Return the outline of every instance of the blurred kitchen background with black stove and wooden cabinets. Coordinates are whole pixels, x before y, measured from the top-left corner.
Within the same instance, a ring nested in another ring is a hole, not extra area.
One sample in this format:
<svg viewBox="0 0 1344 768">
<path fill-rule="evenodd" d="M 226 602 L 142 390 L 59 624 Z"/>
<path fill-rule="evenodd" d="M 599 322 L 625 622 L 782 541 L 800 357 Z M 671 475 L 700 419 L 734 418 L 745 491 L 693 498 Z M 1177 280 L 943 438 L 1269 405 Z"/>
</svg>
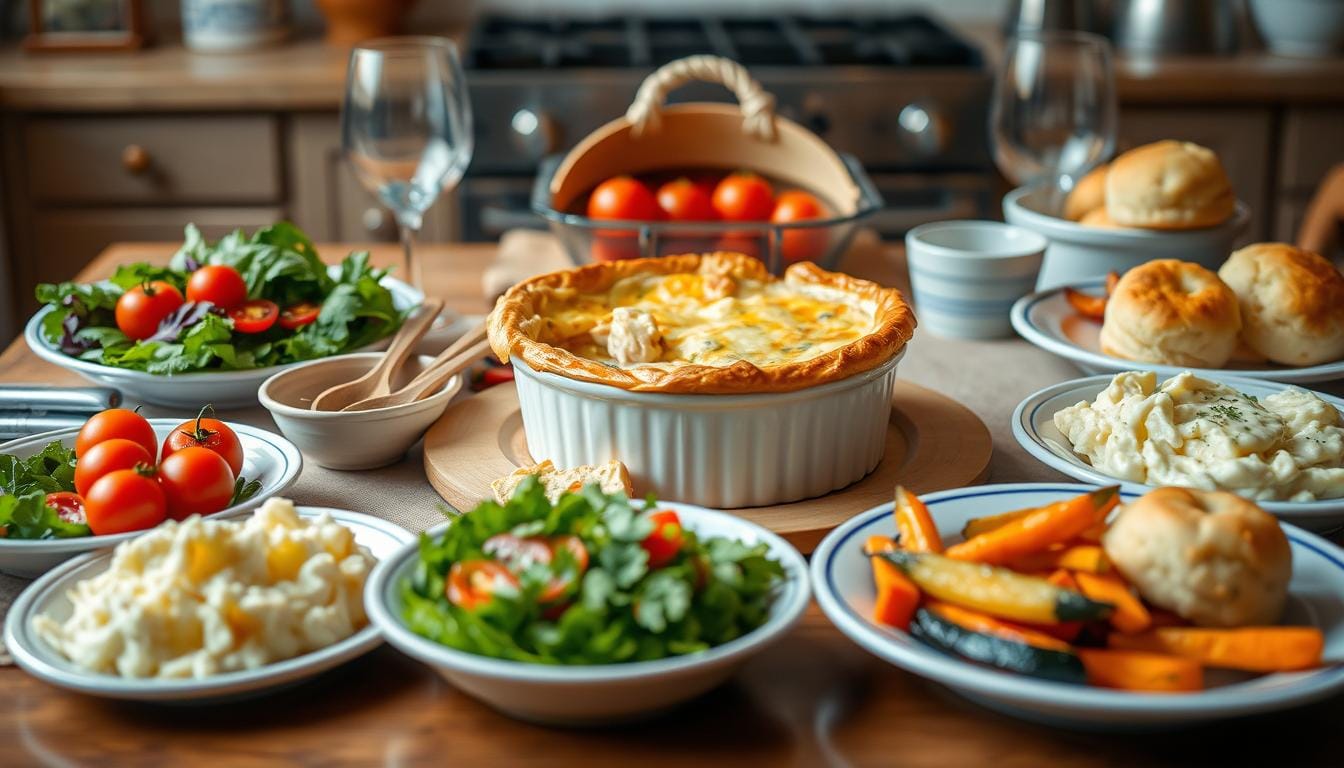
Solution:
<svg viewBox="0 0 1344 768">
<path fill-rule="evenodd" d="M 1266 11 L 1267 9 L 1267 11 Z M 210 237 L 289 218 L 316 241 L 394 241 L 340 153 L 345 55 L 371 30 L 462 44 L 476 148 L 422 239 L 542 227 L 538 163 L 622 114 L 657 65 L 718 52 L 780 112 L 855 155 L 895 239 L 1000 218 L 992 67 L 1013 30 L 1081 28 L 1117 48 L 1118 148 L 1214 148 L 1254 211 L 1246 241 L 1292 241 L 1344 161 L 1344 0 L 4 0 L 0 3 L 0 339 L 40 281 L 116 241 Z M 32 24 L 30 13 L 40 23 Z M 246 23 L 241 24 L 239 20 Z M 324 39 L 325 35 L 325 39 Z M 184 39 L 185 38 L 185 39 Z M 673 101 L 727 100 L 707 85 Z"/>
</svg>

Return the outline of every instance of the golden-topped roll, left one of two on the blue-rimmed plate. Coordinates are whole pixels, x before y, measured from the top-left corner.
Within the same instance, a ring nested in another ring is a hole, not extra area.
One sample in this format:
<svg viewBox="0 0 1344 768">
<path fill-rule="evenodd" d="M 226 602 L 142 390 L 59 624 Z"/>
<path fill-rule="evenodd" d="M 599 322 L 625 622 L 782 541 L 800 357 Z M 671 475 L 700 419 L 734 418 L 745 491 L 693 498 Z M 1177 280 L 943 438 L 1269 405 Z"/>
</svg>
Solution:
<svg viewBox="0 0 1344 768">
<path fill-rule="evenodd" d="M 1106 301 L 1101 350 L 1107 355 L 1218 369 L 1242 328 L 1236 295 L 1198 264 L 1163 258 L 1125 273 Z"/>
</svg>

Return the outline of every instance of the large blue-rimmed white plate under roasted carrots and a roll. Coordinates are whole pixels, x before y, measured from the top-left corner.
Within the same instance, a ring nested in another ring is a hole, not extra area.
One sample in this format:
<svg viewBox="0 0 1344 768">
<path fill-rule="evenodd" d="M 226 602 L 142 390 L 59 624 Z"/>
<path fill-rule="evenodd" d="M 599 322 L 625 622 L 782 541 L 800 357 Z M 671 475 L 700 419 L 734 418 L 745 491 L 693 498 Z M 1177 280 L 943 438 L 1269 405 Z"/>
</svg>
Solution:
<svg viewBox="0 0 1344 768">
<path fill-rule="evenodd" d="M 966 521 L 1008 510 L 1058 502 L 1093 486 L 1020 483 L 977 486 L 923 496 L 945 542 L 961 541 Z M 1137 498 L 1124 494 L 1125 500 Z M 1211 686 L 1191 694 L 1140 694 L 1042 681 L 981 667 L 878 624 L 872 616 L 872 569 L 863 554 L 870 535 L 894 535 L 891 504 L 849 519 L 812 553 L 812 590 L 835 625 L 874 655 L 952 687 L 989 707 L 1056 725 L 1087 728 L 1176 728 L 1210 720 L 1286 709 L 1344 690 L 1344 550 L 1293 526 L 1284 526 L 1293 547 L 1293 580 L 1285 624 L 1310 624 L 1325 632 L 1318 670 L 1242 675 L 1210 673 Z"/>
</svg>

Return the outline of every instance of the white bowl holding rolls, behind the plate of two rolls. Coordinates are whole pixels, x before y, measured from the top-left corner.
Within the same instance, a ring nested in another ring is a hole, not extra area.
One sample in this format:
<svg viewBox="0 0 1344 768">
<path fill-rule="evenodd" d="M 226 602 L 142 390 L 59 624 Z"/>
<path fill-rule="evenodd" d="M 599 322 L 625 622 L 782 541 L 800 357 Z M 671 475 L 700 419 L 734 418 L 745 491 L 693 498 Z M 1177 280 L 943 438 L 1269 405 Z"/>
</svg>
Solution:
<svg viewBox="0 0 1344 768">
<path fill-rule="evenodd" d="M 1236 203 L 1232 218 L 1199 230 L 1102 229 L 1083 226 L 1055 215 L 1046 204 L 1046 191 L 1019 187 L 1004 196 L 1004 219 L 1050 239 L 1038 289 L 1071 285 L 1107 272 L 1125 273 L 1154 258 L 1179 258 L 1214 272 L 1232 253 L 1232 242 L 1250 222 L 1250 210 Z"/>
</svg>

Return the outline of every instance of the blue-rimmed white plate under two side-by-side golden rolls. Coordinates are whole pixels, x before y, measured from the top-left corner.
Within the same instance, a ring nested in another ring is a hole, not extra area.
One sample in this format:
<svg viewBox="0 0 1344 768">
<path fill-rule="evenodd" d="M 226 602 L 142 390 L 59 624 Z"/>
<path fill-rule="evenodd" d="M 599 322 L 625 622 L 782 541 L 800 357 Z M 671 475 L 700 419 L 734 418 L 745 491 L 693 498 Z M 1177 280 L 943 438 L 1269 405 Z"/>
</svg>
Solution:
<svg viewBox="0 0 1344 768">
<path fill-rule="evenodd" d="M 1101 296 L 1106 291 L 1105 284 L 1105 280 L 1091 280 L 1078 282 L 1074 288 L 1083 293 Z M 1227 375 L 1294 383 L 1344 378 L 1344 360 L 1296 369 L 1273 363 L 1257 364 L 1232 360 L 1223 369 L 1185 369 L 1113 358 L 1101 351 L 1101 323 L 1079 316 L 1064 299 L 1063 288 L 1051 288 L 1023 296 L 1013 304 L 1009 319 L 1013 330 L 1023 339 L 1073 362 L 1089 374 L 1157 371 L 1161 377 L 1173 377 L 1181 371 L 1192 370 L 1199 375 Z"/>
</svg>

